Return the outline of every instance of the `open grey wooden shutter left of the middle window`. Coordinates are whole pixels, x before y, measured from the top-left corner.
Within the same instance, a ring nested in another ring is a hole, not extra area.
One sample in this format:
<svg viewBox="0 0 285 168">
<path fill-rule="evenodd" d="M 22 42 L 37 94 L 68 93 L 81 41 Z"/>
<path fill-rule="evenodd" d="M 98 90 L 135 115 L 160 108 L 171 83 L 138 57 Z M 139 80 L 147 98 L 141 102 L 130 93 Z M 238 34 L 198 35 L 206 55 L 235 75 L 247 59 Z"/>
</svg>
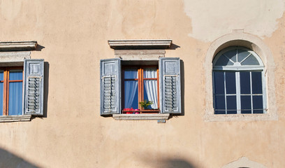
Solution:
<svg viewBox="0 0 285 168">
<path fill-rule="evenodd" d="M 121 59 L 101 59 L 101 116 L 121 112 Z"/>
</svg>

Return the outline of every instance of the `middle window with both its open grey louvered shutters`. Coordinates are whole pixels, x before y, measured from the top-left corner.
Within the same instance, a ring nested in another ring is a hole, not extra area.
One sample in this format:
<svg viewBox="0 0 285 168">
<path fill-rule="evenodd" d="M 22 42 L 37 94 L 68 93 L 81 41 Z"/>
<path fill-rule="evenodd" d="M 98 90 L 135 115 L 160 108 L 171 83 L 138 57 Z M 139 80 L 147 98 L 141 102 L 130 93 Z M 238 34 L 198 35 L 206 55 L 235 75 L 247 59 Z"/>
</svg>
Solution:
<svg viewBox="0 0 285 168">
<path fill-rule="evenodd" d="M 145 62 L 122 66 L 120 58 L 101 59 L 101 116 L 140 109 L 143 99 L 154 102 L 150 110 L 140 109 L 143 113 L 181 113 L 180 59 L 160 57 L 156 66 Z"/>
</svg>

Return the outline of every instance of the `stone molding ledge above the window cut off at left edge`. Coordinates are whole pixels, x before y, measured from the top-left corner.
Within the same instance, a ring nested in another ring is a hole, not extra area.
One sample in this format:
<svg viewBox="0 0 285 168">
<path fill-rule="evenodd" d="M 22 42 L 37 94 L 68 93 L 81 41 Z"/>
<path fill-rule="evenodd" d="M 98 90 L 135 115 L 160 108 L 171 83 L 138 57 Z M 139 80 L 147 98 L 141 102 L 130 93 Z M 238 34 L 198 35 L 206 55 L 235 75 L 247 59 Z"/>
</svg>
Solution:
<svg viewBox="0 0 285 168">
<path fill-rule="evenodd" d="M 0 42 L 0 51 L 36 50 L 36 41 Z"/>
</svg>

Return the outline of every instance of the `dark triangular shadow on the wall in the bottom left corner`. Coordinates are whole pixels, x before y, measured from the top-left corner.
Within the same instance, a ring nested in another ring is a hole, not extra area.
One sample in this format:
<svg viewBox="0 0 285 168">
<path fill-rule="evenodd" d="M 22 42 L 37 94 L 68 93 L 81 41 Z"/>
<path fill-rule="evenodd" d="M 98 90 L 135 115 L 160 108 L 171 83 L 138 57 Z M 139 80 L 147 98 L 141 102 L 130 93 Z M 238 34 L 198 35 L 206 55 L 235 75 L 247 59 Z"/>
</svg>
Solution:
<svg viewBox="0 0 285 168">
<path fill-rule="evenodd" d="M 23 158 L 14 155 L 6 150 L 0 148 L 0 167 L 21 167 L 21 168 L 36 168 L 31 162 L 27 162 Z"/>
</svg>

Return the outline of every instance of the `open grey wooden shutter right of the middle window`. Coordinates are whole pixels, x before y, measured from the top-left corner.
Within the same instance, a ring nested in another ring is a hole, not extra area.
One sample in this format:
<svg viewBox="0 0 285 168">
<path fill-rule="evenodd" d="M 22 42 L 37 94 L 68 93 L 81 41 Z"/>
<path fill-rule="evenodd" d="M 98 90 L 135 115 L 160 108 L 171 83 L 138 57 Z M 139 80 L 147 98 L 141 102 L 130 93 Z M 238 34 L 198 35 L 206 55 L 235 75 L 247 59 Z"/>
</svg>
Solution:
<svg viewBox="0 0 285 168">
<path fill-rule="evenodd" d="M 159 58 L 161 113 L 181 113 L 180 58 Z"/>
</svg>

